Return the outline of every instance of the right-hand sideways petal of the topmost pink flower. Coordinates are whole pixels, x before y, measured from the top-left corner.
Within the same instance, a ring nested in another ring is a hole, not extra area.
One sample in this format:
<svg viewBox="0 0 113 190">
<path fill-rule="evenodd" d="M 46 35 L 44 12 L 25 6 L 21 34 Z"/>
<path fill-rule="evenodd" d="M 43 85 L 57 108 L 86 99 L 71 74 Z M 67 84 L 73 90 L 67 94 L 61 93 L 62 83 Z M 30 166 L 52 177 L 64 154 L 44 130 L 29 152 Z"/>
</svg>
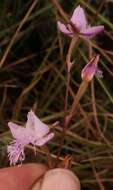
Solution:
<svg viewBox="0 0 113 190">
<path fill-rule="evenodd" d="M 84 35 L 88 38 L 92 38 L 93 36 L 95 36 L 97 33 L 104 31 L 104 26 L 103 25 L 99 25 L 99 26 L 93 26 L 93 27 L 89 27 L 86 30 L 83 30 L 81 32 L 81 35 Z"/>
</svg>

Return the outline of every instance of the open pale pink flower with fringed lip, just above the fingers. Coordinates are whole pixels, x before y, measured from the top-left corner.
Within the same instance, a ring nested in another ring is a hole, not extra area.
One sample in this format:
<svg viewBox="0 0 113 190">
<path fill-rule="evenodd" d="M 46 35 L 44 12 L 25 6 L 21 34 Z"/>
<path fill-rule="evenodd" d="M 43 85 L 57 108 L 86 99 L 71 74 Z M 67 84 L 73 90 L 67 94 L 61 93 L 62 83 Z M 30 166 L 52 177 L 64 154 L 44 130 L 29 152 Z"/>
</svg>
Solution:
<svg viewBox="0 0 113 190">
<path fill-rule="evenodd" d="M 32 110 L 28 112 L 25 127 L 13 122 L 9 122 L 8 126 L 14 137 L 14 140 L 7 147 L 10 165 L 22 163 L 25 159 L 24 149 L 26 145 L 43 146 L 54 136 L 54 133 L 49 133 L 49 127 Z"/>
</svg>

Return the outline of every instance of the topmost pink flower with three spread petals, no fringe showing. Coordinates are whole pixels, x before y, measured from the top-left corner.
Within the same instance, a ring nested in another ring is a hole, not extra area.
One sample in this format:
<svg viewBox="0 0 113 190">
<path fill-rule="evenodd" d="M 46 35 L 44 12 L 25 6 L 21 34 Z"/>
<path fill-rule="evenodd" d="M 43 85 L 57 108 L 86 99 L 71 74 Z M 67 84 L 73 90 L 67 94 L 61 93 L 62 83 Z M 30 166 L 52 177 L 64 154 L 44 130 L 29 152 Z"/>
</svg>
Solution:
<svg viewBox="0 0 113 190">
<path fill-rule="evenodd" d="M 64 25 L 62 22 L 58 21 L 57 25 L 58 29 L 69 37 L 73 37 L 77 33 L 81 37 L 92 38 L 97 33 L 104 30 L 103 25 L 88 25 L 85 12 L 80 5 L 74 10 L 69 24 Z"/>
</svg>

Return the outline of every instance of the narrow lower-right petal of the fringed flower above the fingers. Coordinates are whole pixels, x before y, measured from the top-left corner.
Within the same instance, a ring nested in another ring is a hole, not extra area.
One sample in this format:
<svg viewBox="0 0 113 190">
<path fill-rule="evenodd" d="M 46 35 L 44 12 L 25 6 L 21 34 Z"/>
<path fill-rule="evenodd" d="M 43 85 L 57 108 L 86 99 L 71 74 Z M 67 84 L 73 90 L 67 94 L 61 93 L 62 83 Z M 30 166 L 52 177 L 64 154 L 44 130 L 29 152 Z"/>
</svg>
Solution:
<svg viewBox="0 0 113 190">
<path fill-rule="evenodd" d="M 38 139 L 34 145 L 36 146 L 43 146 L 45 143 L 47 143 L 49 140 L 51 140 L 54 137 L 54 133 L 49 133 L 45 137 Z"/>
</svg>

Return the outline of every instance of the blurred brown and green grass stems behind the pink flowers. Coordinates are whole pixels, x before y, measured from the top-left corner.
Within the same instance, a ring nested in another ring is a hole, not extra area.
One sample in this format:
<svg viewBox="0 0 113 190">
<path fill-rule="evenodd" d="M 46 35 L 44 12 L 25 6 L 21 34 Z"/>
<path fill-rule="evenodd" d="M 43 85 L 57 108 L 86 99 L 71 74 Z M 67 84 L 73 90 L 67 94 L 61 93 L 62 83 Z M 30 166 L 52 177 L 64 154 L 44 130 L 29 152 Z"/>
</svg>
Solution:
<svg viewBox="0 0 113 190">
<path fill-rule="evenodd" d="M 6 145 L 11 139 L 7 122 L 26 121 L 32 108 L 46 123 L 64 117 L 66 87 L 65 56 L 70 39 L 57 30 L 62 19 L 52 0 L 0 1 L 0 166 L 9 166 Z M 101 55 L 104 77 L 91 83 L 85 93 L 62 147 L 61 160 L 72 156 L 71 169 L 80 179 L 82 189 L 113 188 L 113 3 L 106 0 L 61 0 L 71 15 L 80 4 L 92 25 L 103 24 L 105 32 L 92 42 L 93 53 Z M 89 59 L 86 45 L 74 51 L 70 108 L 81 82 L 80 73 Z M 100 129 L 100 130 L 98 130 Z M 61 140 L 61 127 L 54 128 L 49 143 L 55 159 Z M 46 162 L 44 150 L 37 157 L 26 150 L 25 162 Z"/>
</svg>

